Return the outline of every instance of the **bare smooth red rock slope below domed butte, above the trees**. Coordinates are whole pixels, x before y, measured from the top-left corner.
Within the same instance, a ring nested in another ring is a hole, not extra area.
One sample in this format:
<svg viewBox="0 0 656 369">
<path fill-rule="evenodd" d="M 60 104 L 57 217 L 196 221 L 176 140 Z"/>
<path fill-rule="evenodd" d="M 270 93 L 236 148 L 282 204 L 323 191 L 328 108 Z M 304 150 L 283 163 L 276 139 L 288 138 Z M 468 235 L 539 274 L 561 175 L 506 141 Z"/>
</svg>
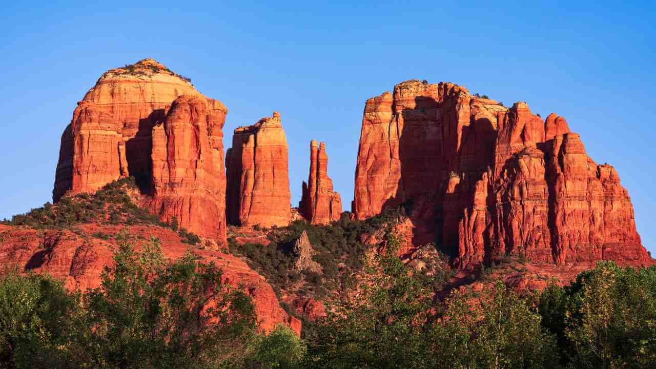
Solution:
<svg viewBox="0 0 656 369">
<path fill-rule="evenodd" d="M 104 240 L 94 234 L 117 234 L 121 226 L 85 224 L 71 230 L 35 230 L 26 227 L 0 225 L 0 263 L 16 265 L 20 270 L 47 272 L 63 280 L 70 290 L 86 290 L 100 285 L 100 274 L 111 265 L 115 238 Z M 82 232 L 82 233 L 81 233 Z M 182 257 L 190 250 L 173 230 L 154 226 L 132 226 L 130 236 L 137 240 L 157 237 L 164 256 Z M 140 248 L 144 241 L 136 241 Z M 224 281 L 234 288 L 243 288 L 255 305 L 260 329 L 270 332 L 278 324 L 290 326 L 300 334 L 300 320 L 280 307 L 272 287 L 239 257 L 218 250 L 193 249 L 203 262 L 213 262 L 223 271 Z"/>
</svg>

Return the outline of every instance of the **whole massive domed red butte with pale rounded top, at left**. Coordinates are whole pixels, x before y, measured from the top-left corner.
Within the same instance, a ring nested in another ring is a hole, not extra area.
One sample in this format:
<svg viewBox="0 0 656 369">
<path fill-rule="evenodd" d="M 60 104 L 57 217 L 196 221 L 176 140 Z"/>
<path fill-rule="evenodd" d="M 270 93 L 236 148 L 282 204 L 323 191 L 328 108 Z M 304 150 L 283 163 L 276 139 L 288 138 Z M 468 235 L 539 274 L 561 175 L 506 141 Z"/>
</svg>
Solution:
<svg viewBox="0 0 656 369">
<path fill-rule="evenodd" d="M 163 221 L 226 242 L 228 109 L 153 59 L 105 72 L 62 135 L 52 198 L 133 176 Z"/>
</svg>

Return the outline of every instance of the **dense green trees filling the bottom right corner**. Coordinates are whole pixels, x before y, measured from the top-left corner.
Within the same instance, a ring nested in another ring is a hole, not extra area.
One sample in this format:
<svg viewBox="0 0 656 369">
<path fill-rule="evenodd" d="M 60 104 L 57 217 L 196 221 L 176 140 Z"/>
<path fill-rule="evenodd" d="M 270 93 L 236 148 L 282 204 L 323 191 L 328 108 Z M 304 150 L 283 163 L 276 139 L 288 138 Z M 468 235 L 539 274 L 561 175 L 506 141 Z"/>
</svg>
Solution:
<svg viewBox="0 0 656 369">
<path fill-rule="evenodd" d="M 656 267 L 598 263 L 571 286 L 536 297 L 543 325 L 576 368 L 647 368 L 656 362 Z"/>
</svg>

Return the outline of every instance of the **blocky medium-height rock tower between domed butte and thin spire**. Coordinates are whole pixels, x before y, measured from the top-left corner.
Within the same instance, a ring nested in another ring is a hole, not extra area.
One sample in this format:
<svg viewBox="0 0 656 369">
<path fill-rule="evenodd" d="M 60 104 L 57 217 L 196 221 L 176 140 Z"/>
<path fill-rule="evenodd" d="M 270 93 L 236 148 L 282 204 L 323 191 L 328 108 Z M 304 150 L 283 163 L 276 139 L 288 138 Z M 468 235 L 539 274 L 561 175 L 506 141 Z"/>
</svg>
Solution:
<svg viewBox="0 0 656 369">
<path fill-rule="evenodd" d="M 226 217 L 234 225 L 289 225 L 291 192 L 287 138 L 274 112 L 238 127 L 226 154 Z"/>
</svg>

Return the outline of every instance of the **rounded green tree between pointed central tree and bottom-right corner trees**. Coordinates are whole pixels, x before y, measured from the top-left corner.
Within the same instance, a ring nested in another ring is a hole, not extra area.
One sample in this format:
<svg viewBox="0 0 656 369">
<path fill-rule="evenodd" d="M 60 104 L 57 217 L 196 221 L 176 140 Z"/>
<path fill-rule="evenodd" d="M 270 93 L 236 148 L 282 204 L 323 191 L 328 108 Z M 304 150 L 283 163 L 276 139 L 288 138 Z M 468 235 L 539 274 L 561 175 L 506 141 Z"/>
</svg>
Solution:
<svg viewBox="0 0 656 369">
<path fill-rule="evenodd" d="M 478 303 L 451 301 L 436 332 L 434 352 L 449 353 L 453 368 L 555 368 L 559 362 L 556 337 L 543 329 L 541 316 L 501 281 Z"/>
</svg>

